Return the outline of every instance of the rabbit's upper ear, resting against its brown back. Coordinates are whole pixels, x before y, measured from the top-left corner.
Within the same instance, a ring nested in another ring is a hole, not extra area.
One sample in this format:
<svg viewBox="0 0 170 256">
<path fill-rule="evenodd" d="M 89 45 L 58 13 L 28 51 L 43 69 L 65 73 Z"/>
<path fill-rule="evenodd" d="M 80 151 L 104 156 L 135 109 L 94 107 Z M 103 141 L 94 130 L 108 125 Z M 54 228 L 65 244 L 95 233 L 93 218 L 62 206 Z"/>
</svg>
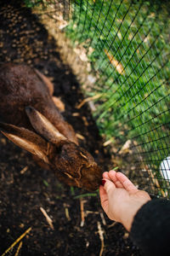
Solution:
<svg viewBox="0 0 170 256">
<path fill-rule="evenodd" d="M 67 140 L 53 124 L 51 124 L 46 117 L 39 113 L 35 108 L 26 107 L 26 114 L 31 121 L 32 127 L 42 137 L 48 140 L 50 143 L 59 143 L 60 141 Z"/>
</svg>

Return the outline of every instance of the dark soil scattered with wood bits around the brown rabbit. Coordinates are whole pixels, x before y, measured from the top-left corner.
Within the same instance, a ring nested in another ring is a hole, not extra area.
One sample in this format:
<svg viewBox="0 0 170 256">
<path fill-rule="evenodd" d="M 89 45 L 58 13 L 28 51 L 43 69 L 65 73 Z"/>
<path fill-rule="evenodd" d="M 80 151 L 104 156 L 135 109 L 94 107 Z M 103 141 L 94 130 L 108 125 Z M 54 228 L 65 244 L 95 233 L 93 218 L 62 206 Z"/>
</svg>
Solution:
<svg viewBox="0 0 170 256">
<path fill-rule="evenodd" d="M 76 108 L 83 99 L 81 88 L 71 68 L 62 63 L 54 38 L 30 9 L 16 1 L 0 3 L 0 62 L 8 61 L 27 63 L 53 79 L 54 95 L 65 103 L 65 119 L 85 138 L 79 141 L 81 146 L 94 155 L 105 171 L 113 167 L 90 110 L 85 105 Z M 3 135 L 0 149 L 1 254 L 31 227 L 22 239 L 19 253 L 17 243 L 7 255 L 99 255 L 100 224 L 104 230 L 103 255 L 140 255 L 121 224 L 110 227 L 112 222 L 100 207 L 99 196 L 82 197 L 84 212 L 90 212 L 81 226 L 80 198 L 75 196 L 87 191 L 59 183 L 53 172 L 42 170 L 30 154 Z M 54 230 L 40 207 L 52 218 Z"/>
</svg>

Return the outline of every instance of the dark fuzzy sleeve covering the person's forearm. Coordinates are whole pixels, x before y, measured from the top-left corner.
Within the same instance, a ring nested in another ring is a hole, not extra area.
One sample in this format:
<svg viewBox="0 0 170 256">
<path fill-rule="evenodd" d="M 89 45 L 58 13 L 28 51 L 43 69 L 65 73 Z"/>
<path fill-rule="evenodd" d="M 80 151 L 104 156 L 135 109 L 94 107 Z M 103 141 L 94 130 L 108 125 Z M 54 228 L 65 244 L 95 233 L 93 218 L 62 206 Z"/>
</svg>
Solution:
<svg viewBox="0 0 170 256">
<path fill-rule="evenodd" d="M 144 255 L 170 255 L 170 201 L 144 204 L 133 219 L 130 236 Z"/>
</svg>

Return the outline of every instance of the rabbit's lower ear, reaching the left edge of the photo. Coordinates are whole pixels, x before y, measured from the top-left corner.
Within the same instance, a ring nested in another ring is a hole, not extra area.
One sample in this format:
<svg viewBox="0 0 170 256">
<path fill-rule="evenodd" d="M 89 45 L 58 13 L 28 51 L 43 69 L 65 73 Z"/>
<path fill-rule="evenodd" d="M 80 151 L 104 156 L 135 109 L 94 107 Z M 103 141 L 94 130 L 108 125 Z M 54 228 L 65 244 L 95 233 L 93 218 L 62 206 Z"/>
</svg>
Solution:
<svg viewBox="0 0 170 256">
<path fill-rule="evenodd" d="M 8 125 L 2 122 L 0 122 L 0 131 L 17 146 L 26 149 L 31 154 L 35 154 L 38 158 L 48 163 L 48 143 L 42 137 L 23 127 Z"/>
</svg>

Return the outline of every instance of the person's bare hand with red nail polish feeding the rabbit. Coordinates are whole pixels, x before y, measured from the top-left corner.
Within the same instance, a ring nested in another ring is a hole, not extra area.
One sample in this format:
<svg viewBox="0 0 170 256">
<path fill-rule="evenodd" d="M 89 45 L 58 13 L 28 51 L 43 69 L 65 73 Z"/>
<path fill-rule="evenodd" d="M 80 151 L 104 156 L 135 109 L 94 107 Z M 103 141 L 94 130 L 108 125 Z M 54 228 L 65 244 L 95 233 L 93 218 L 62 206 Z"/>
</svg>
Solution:
<svg viewBox="0 0 170 256">
<path fill-rule="evenodd" d="M 104 186 L 99 187 L 101 206 L 109 218 L 120 222 L 129 231 L 133 218 L 150 195 L 137 189 L 122 172 L 104 172 Z"/>
</svg>

